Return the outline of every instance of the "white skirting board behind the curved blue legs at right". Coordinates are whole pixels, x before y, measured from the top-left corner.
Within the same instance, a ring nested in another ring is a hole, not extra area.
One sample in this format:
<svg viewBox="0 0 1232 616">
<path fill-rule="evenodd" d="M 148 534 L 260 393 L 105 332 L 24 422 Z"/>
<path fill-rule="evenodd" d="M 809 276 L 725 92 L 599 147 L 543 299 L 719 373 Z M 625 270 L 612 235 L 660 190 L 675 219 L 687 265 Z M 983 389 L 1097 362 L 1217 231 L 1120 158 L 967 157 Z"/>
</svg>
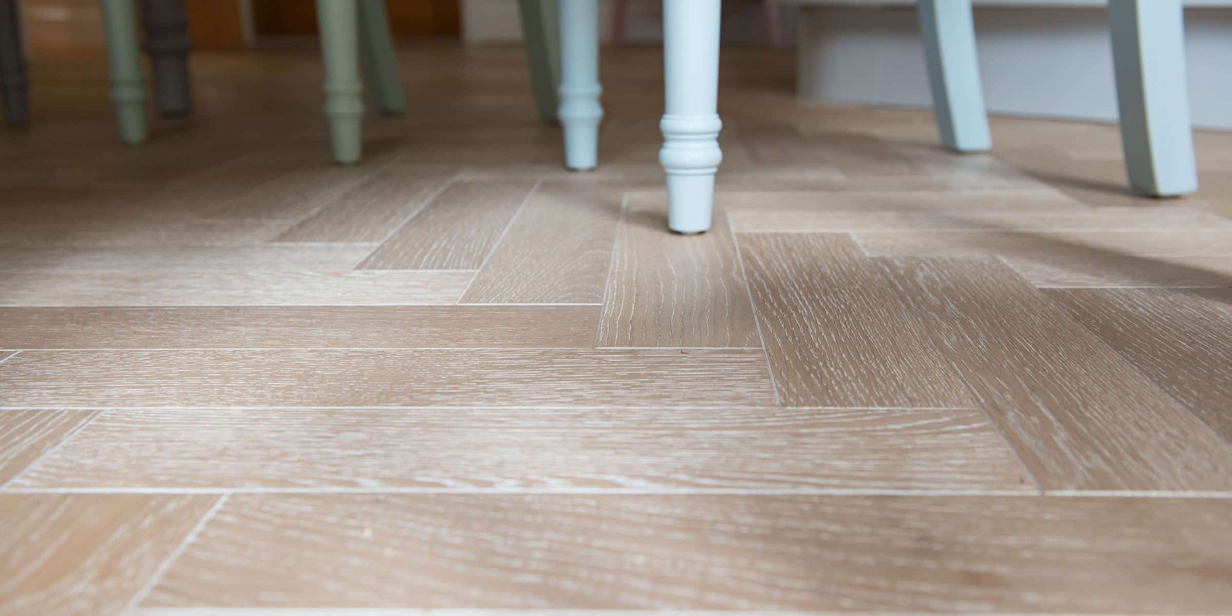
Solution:
<svg viewBox="0 0 1232 616">
<path fill-rule="evenodd" d="M 992 113 L 1116 120 L 1108 16 L 1099 7 L 976 9 Z M 1232 129 L 1232 10 L 1186 9 L 1194 126 Z M 928 107 L 913 7 L 803 7 L 797 87 L 807 100 Z"/>
</svg>

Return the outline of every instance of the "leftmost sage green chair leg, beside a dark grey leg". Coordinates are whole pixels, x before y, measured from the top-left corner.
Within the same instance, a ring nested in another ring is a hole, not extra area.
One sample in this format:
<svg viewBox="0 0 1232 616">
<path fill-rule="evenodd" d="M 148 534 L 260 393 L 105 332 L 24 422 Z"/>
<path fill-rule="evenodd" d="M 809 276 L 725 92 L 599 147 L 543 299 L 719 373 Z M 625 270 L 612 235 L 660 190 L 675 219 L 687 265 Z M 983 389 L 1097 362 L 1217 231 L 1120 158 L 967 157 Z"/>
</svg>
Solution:
<svg viewBox="0 0 1232 616">
<path fill-rule="evenodd" d="M 101 0 L 101 5 L 120 138 L 124 143 L 142 143 L 145 140 L 145 84 L 137 44 L 137 9 L 133 0 Z"/>
</svg>

